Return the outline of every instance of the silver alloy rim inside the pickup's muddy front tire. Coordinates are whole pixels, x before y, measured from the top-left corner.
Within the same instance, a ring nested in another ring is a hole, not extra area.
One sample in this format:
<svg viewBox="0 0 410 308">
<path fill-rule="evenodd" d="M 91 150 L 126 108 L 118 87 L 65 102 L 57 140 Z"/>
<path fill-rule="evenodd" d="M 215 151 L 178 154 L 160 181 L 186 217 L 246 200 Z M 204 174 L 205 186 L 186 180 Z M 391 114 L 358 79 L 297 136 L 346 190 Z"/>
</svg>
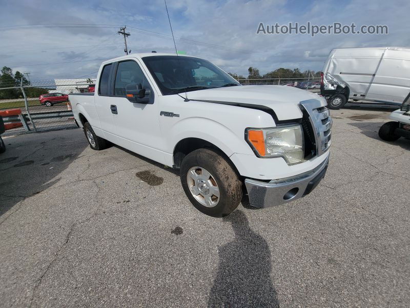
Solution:
<svg viewBox="0 0 410 308">
<path fill-rule="evenodd" d="M 219 187 L 210 172 L 195 166 L 188 170 L 188 188 L 192 196 L 203 206 L 215 207 L 219 202 Z"/>
</svg>

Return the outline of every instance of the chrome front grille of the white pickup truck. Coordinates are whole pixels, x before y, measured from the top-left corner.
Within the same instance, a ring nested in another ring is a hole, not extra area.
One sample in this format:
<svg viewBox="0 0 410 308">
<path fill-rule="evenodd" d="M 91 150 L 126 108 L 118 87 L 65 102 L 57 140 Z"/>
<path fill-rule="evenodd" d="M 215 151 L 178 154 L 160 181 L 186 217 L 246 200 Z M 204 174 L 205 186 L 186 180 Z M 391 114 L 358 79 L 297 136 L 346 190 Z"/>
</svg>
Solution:
<svg viewBox="0 0 410 308">
<path fill-rule="evenodd" d="M 321 106 L 319 100 L 302 101 L 300 105 L 308 112 L 309 121 L 315 135 L 316 153 L 320 156 L 329 149 L 332 143 L 332 118 L 330 117 L 330 111 L 326 107 Z"/>
</svg>

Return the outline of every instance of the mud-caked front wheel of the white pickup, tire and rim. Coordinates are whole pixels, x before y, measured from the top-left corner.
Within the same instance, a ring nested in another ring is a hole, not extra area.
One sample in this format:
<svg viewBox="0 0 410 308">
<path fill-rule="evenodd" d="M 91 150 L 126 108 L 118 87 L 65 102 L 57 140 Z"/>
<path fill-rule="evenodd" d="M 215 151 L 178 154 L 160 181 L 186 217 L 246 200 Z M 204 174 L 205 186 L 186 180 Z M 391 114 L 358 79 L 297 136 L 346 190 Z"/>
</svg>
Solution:
<svg viewBox="0 0 410 308">
<path fill-rule="evenodd" d="M 183 158 L 180 178 L 191 203 L 209 216 L 231 214 L 242 199 L 242 183 L 235 170 L 211 149 L 198 149 Z"/>
</svg>

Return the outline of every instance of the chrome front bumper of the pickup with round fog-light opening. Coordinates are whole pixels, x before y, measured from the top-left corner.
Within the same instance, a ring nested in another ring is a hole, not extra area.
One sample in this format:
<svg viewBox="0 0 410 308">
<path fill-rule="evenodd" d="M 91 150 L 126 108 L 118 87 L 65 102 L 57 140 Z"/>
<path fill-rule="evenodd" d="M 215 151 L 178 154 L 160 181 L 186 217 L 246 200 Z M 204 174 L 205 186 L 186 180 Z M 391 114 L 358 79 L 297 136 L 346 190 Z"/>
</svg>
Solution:
<svg viewBox="0 0 410 308">
<path fill-rule="evenodd" d="M 329 157 L 315 169 L 303 174 L 270 182 L 245 179 L 249 203 L 254 207 L 270 207 L 308 195 L 323 179 Z"/>
</svg>

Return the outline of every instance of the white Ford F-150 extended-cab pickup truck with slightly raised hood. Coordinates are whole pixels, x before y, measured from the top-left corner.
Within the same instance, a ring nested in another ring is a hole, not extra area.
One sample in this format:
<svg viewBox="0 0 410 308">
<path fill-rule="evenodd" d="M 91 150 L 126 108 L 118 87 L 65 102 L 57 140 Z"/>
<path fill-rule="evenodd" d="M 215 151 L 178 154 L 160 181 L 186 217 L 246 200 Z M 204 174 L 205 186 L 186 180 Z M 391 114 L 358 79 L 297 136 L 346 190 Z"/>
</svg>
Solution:
<svg viewBox="0 0 410 308">
<path fill-rule="evenodd" d="M 249 195 L 269 207 L 309 194 L 329 164 L 326 101 L 293 87 L 242 86 L 209 61 L 142 53 L 104 62 L 94 93 L 70 94 L 91 148 L 106 141 L 179 168 L 202 213 L 223 217 Z"/>
</svg>

